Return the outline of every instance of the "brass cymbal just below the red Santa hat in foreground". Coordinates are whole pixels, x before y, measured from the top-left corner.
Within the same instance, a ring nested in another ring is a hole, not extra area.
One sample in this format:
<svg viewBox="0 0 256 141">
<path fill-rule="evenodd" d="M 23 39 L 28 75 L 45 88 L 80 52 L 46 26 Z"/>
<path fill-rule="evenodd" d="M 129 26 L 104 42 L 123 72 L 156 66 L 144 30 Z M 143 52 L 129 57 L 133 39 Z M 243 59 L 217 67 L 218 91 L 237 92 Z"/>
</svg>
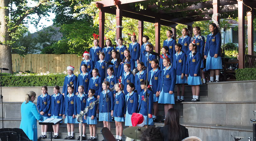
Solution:
<svg viewBox="0 0 256 141">
<path fill-rule="evenodd" d="M 124 129 L 123 133 L 126 137 L 129 137 L 131 139 L 141 139 L 141 134 L 146 129 L 146 127 L 139 126 L 128 127 Z"/>
</svg>

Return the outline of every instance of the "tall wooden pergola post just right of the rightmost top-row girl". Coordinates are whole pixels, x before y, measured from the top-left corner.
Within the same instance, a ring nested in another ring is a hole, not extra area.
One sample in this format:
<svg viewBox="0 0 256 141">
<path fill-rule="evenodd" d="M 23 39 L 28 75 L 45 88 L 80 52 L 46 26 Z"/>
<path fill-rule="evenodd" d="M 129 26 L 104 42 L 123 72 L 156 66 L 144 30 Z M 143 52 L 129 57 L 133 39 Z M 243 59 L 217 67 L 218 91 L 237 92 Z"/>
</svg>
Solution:
<svg viewBox="0 0 256 141">
<path fill-rule="evenodd" d="M 238 4 L 238 55 L 239 55 L 239 69 L 244 68 L 245 55 L 245 28 L 244 28 L 244 5 L 243 0 L 237 0 Z"/>
</svg>

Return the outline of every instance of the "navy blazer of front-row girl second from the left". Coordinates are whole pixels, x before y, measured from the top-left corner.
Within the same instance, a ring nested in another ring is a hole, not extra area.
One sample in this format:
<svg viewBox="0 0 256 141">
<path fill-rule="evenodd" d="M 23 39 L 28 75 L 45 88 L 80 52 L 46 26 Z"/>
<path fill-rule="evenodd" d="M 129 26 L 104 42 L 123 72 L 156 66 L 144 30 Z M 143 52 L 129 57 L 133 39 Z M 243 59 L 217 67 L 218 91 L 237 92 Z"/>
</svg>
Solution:
<svg viewBox="0 0 256 141">
<path fill-rule="evenodd" d="M 56 99 L 53 97 L 55 94 L 51 95 L 51 116 L 59 116 L 63 112 L 64 96 L 61 93 L 59 94 Z"/>
</svg>

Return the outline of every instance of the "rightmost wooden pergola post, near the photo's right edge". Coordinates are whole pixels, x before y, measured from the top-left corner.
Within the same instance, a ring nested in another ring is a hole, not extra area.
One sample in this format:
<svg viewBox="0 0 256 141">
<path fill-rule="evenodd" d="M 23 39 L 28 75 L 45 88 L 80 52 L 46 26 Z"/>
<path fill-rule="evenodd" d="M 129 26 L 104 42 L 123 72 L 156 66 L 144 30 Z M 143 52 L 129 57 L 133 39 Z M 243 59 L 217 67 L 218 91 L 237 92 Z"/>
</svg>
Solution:
<svg viewBox="0 0 256 141">
<path fill-rule="evenodd" d="M 248 55 L 253 55 L 253 13 L 247 12 L 248 23 Z M 240 58 L 240 57 L 239 57 Z"/>
</svg>

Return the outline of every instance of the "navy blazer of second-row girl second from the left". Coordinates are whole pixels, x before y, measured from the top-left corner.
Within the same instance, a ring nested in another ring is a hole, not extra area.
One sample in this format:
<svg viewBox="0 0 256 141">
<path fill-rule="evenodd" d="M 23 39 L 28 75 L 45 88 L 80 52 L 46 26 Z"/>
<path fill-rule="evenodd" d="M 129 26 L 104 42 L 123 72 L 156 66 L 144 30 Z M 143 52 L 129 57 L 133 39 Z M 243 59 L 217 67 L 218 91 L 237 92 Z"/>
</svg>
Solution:
<svg viewBox="0 0 256 141">
<path fill-rule="evenodd" d="M 78 78 L 77 78 L 77 89 L 76 89 L 76 92 L 78 92 L 78 87 L 80 85 L 83 85 L 85 94 L 88 94 L 87 92 L 88 92 L 89 80 L 92 77 L 92 75 L 90 73 L 86 73 L 84 75 L 84 78 L 83 78 L 83 73 L 81 73 L 81 74 L 79 74 Z"/>
</svg>

